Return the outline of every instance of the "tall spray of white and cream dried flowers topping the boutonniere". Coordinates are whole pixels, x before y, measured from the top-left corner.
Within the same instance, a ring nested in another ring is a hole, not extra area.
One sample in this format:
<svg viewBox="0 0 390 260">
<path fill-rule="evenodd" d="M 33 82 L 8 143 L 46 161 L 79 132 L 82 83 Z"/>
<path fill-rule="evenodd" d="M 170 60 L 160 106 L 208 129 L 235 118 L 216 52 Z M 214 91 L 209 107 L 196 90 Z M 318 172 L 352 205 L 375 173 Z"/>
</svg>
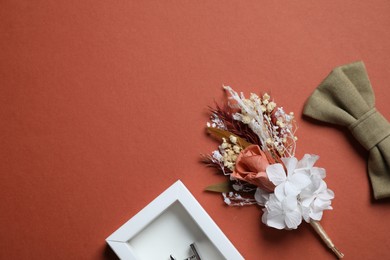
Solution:
<svg viewBox="0 0 390 260">
<path fill-rule="evenodd" d="M 225 86 L 224 88 L 230 93 L 230 99 L 237 103 L 236 105 L 230 104 L 230 106 L 240 110 L 233 115 L 233 118 L 247 124 L 252 129 L 259 137 L 263 150 L 273 148 L 280 156 L 295 154 L 297 138 L 294 136 L 293 113 L 286 114 L 283 108 L 277 108 L 276 103 L 267 93 L 262 97 L 251 93 L 250 98 L 247 99 L 243 93 L 238 95 L 231 87 Z"/>
</svg>

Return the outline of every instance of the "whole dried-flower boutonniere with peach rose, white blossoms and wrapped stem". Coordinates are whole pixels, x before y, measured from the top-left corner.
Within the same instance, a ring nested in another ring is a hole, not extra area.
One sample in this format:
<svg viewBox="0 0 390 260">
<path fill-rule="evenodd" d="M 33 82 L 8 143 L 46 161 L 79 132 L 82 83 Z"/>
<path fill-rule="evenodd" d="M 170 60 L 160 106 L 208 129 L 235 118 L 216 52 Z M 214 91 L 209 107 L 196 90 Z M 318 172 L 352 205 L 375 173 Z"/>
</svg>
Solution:
<svg viewBox="0 0 390 260">
<path fill-rule="evenodd" d="M 224 86 L 228 103 L 211 108 L 207 131 L 220 141 L 218 149 L 203 161 L 227 177 L 208 186 L 221 192 L 229 206 L 259 205 L 262 222 L 276 229 L 296 229 L 309 223 L 324 243 L 342 258 L 320 225 L 331 210 L 334 193 L 324 181 L 326 171 L 315 166 L 319 156 L 297 159 L 297 126 L 293 113 L 286 113 L 267 93 L 246 98 Z"/>
</svg>

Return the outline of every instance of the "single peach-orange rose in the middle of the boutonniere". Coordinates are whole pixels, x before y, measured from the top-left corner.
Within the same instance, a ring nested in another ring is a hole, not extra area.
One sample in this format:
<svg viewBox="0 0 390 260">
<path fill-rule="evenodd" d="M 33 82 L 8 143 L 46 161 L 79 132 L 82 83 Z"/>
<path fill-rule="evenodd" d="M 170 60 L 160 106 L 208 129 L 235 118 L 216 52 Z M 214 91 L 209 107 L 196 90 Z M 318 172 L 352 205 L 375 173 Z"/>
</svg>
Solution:
<svg viewBox="0 0 390 260">
<path fill-rule="evenodd" d="M 268 179 L 266 169 L 269 163 L 265 153 L 257 145 L 250 145 L 238 155 L 232 177 L 273 192 L 275 185 Z"/>
</svg>

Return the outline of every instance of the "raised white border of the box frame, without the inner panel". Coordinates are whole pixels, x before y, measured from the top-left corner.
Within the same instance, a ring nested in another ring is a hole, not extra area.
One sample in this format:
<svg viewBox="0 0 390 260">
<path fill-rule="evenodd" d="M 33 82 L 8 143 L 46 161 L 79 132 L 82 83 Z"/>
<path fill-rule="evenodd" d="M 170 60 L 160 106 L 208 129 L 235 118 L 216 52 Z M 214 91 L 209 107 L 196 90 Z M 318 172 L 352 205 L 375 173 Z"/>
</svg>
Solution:
<svg viewBox="0 0 390 260">
<path fill-rule="evenodd" d="M 112 233 L 106 242 L 120 259 L 137 260 L 128 241 L 175 202 L 179 202 L 185 208 L 224 258 L 244 259 L 180 180 Z"/>
</svg>

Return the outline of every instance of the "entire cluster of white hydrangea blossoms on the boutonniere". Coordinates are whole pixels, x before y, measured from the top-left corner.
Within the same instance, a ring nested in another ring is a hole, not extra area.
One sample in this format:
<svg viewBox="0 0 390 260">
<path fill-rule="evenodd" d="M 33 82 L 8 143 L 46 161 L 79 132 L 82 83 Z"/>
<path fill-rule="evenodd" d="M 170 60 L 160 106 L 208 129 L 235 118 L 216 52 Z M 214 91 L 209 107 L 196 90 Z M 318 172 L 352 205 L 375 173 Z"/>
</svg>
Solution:
<svg viewBox="0 0 390 260">
<path fill-rule="evenodd" d="M 327 188 L 323 178 L 325 169 L 314 167 L 317 155 L 305 154 L 298 161 L 295 157 L 282 158 L 282 164 L 267 167 L 268 178 L 275 184 L 274 194 L 256 191 L 259 205 L 265 204 L 263 222 L 277 229 L 294 229 L 302 221 L 321 220 L 324 210 L 332 209 L 334 193 Z M 298 216 L 300 220 L 298 220 Z"/>
</svg>

